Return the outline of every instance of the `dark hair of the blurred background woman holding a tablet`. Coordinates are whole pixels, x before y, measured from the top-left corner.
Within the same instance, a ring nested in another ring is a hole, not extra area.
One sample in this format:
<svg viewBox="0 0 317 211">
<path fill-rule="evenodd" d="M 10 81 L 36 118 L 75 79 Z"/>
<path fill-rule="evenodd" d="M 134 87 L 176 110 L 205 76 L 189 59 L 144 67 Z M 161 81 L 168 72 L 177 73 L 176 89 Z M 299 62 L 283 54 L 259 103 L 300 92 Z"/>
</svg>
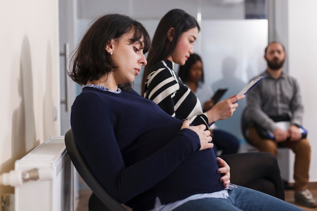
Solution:
<svg viewBox="0 0 317 211">
<path fill-rule="evenodd" d="M 200 61 L 203 64 L 203 60 L 198 54 L 192 54 L 192 55 L 190 55 L 190 57 L 188 58 L 188 60 L 185 62 L 184 65 L 179 66 L 178 76 L 180 77 L 180 79 L 182 79 L 183 82 L 186 83 L 188 81 L 189 70 L 190 70 L 191 66 L 193 64 L 195 64 L 197 61 Z M 204 67 L 202 67 L 202 72 L 203 72 L 203 74 L 202 74 L 200 81 L 204 82 Z"/>
</svg>

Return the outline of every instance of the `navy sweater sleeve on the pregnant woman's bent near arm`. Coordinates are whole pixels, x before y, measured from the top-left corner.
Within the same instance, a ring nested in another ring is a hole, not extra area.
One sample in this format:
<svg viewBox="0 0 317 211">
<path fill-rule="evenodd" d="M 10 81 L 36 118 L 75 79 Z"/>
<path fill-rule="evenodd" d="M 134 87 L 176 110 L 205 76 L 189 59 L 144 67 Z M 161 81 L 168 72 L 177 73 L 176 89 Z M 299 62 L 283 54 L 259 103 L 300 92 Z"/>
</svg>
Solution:
<svg viewBox="0 0 317 211">
<path fill-rule="evenodd" d="M 101 102 L 96 96 L 90 96 L 89 100 L 77 97 L 72 106 L 71 127 L 92 171 L 121 203 L 162 181 L 186 157 L 200 149 L 199 137 L 183 129 L 155 153 L 126 166 L 115 137 L 116 118 Z"/>
</svg>

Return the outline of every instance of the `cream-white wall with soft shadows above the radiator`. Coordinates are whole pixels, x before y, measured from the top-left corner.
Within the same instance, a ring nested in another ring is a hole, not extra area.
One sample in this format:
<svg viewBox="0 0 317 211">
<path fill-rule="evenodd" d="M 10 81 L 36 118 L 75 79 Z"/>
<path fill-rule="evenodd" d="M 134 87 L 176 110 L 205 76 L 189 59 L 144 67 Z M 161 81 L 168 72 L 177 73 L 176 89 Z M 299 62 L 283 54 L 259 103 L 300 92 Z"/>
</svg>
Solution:
<svg viewBox="0 0 317 211">
<path fill-rule="evenodd" d="M 58 1 L 5 1 L 0 7 L 0 174 L 59 135 Z M 0 186 L 0 195 L 13 188 Z"/>
</svg>

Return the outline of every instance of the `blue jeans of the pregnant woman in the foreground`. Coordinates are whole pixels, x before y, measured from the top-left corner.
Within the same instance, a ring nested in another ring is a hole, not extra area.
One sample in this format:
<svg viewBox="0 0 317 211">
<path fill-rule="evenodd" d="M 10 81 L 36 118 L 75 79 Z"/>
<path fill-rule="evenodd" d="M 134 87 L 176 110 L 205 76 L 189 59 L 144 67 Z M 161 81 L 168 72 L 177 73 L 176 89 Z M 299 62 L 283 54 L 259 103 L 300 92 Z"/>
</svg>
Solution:
<svg viewBox="0 0 317 211">
<path fill-rule="evenodd" d="M 291 203 L 265 193 L 238 186 L 228 190 L 229 198 L 203 198 L 188 201 L 173 211 L 295 211 L 303 210 Z"/>
</svg>

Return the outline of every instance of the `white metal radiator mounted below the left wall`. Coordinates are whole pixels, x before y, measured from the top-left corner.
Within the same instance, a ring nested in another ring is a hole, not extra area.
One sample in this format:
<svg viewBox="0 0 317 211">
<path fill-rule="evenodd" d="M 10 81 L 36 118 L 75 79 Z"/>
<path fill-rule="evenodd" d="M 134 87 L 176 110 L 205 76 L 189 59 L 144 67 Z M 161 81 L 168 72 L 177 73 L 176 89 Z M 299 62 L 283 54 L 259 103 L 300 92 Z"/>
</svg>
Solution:
<svg viewBox="0 0 317 211">
<path fill-rule="evenodd" d="M 73 165 L 64 136 L 53 136 L 15 162 L 15 171 L 33 168 L 51 174 L 51 179 L 24 182 L 15 187 L 15 211 L 73 211 Z"/>
</svg>

